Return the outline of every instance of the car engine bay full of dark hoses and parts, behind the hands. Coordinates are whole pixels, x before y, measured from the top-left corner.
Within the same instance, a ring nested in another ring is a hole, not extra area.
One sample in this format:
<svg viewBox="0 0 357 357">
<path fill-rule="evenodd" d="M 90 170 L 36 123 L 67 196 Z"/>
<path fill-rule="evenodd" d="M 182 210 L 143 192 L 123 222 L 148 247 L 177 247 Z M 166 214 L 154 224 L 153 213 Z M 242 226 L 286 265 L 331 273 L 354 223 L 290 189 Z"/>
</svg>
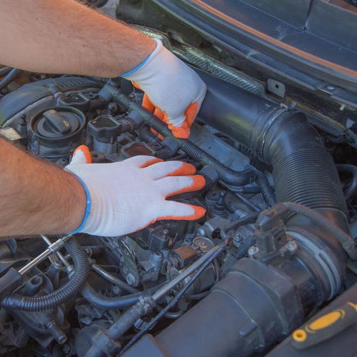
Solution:
<svg viewBox="0 0 357 357">
<path fill-rule="evenodd" d="M 120 237 L 0 241 L 0 286 L 49 250 L 1 291 L 0 353 L 278 356 L 273 348 L 292 348 L 292 331 L 357 282 L 356 113 L 328 119 L 302 97 L 281 98 L 279 81 L 268 90 L 204 47 L 134 26 L 207 85 L 189 139 L 142 109 L 143 93 L 124 79 L 8 67 L 0 69 L 0 134 L 60 166 L 81 144 L 94 163 L 186 161 L 206 186 L 173 199 L 206 216 Z"/>
</svg>

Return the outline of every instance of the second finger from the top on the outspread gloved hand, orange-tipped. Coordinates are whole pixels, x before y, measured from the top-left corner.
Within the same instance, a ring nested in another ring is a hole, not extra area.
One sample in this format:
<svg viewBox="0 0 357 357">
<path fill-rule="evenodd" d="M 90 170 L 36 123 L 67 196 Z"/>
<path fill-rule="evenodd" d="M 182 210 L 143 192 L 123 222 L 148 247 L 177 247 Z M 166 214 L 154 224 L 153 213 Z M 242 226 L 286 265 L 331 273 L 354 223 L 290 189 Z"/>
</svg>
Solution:
<svg viewBox="0 0 357 357">
<path fill-rule="evenodd" d="M 146 174 L 153 180 L 159 180 L 166 176 L 186 176 L 196 174 L 196 167 L 181 161 L 164 161 L 146 167 Z"/>
</svg>

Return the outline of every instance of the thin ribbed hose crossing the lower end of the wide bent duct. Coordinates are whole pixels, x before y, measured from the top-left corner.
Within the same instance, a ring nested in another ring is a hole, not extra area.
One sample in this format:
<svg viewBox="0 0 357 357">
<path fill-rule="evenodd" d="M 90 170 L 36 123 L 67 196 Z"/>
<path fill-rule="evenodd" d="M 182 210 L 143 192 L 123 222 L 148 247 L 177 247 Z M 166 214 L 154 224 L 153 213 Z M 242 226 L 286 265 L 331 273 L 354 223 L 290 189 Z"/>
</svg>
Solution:
<svg viewBox="0 0 357 357">
<path fill-rule="evenodd" d="M 351 238 L 351 236 L 348 236 L 348 234 L 342 231 L 341 228 L 338 228 L 333 223 L 328 221 L 320 213 L 295 202 L 281 202 L 278 203 L 276 206 L 278 205 L 285 206 L 286 208 L 288 208 L 289 211 L 301 214 L 302 216 L 311 219 L 311 221 L 318 224 L 318 226 L 325 228 L 327 231 L 332 233 L 333 236 L 338 239 L 338 241 L 340 241 L 341 245 L 343 246 L 343 249 L 346 251 L 346 253 L 351 259 L 357 259 L 356 243 L 355 241 L 353 241 L 353 238 Z"/>
</svg>

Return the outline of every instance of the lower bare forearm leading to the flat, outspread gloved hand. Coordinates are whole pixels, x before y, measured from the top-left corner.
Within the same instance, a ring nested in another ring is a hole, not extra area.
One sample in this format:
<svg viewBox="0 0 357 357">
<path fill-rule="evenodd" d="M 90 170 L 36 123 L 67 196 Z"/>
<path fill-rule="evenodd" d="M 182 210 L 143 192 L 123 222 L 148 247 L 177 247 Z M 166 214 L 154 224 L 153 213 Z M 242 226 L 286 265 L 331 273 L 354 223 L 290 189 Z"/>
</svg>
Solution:
<svg viewBox="0 0 357 357">
<path fill-rule="evenodd" d="M 0 138 L 0 236 L 74 231 L 86 195 L 68 172 Z"/>
</svg>

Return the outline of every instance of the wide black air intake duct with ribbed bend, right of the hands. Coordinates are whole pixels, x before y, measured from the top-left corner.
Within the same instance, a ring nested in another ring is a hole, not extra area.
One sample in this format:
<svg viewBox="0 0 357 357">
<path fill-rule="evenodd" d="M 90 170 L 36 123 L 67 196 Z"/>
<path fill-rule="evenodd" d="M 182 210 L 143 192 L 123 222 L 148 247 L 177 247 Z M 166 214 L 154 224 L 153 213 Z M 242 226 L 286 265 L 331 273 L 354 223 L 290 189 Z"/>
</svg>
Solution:
<svg viewBox="0 0 357 357">
<path fill-rule="evenodd" d="M 200 75 L 209 89 L 200 117 L 273 167 L 276 200 L 316 209 L 346 230 L 337 169 L 306 116 Z"/>
</svg>

